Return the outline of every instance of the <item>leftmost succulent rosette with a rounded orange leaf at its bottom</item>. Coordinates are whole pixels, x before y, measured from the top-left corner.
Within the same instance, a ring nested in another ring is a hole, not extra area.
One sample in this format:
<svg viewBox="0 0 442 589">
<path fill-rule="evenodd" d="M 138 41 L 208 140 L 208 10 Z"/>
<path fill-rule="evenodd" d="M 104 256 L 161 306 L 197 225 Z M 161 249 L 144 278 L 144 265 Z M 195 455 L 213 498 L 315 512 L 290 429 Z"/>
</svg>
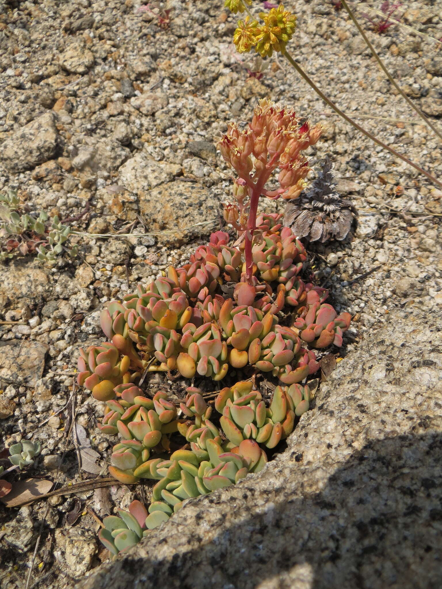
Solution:
<svg viewBox="0 0 442 589">
<path fill-rule="evenodd" d="M 78 356 L 77 377 L 78 385 L 92 391 L 97 401 L 108 401 L 115 397 L 114 388 L 117 385 L 130 382 L 137 373 L 128 372 L 130 358 L 123 356 L 116 346 L 103 342 L 101 346 L 90 346 L 86 350 L 80 348 Z"/>
</svg>

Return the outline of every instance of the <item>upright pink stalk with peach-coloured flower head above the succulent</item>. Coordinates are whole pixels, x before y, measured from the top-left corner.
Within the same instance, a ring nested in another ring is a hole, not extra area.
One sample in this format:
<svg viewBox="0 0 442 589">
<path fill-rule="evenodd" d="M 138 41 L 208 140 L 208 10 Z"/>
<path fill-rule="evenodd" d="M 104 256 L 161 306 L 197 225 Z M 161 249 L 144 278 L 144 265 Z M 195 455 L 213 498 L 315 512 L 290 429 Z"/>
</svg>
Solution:
<svg viewBox="0 0 442 589">
<path fill-rule="evenodd" d="M 289 108 L 282 108 L 266 98 L 259 101 L 253 120 L 244 131 L 230 123 L 218 144 L 221 155 L 238 174 L 233 196 L 237 204 L 226 204 L 224 218 L 245 234 L 246 279 L 252 281 L 252 241 L 256 230 L 256 213 L 261 194 L 268 198 L 297 198 L 305 186 L 311 168 L 301 151 L 321 137 L 322 125 L 299 125 L 299 118 Z M 266 183 L 279 168 L 279 188 L 268 190 Z"/>
</svg>

